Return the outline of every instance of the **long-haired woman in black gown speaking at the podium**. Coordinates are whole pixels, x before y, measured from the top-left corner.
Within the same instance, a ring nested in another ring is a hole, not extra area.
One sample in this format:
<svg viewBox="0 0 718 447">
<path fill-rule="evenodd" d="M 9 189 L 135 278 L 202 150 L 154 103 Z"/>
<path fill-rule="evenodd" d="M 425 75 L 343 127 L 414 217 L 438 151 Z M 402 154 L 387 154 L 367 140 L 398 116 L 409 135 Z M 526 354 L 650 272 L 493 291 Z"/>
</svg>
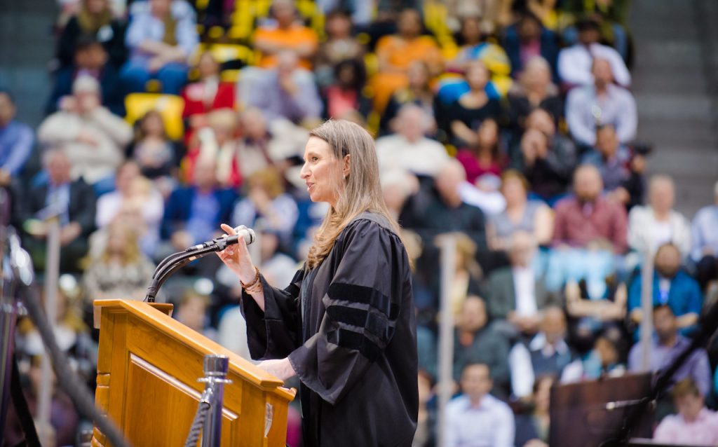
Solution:
<svg viewBox="0 0 718 447">
<path fill-rule="evenodd" d="M 411 446 L 419 406 L 411 274 L 374 141 L 348 121 L 309 135 L 300 175 L 330 210 L 304 268 L 281 290 L 242 239 L 219 253 L 241 281 L 249 350 L 281 380 L 299 377 L 304 446 Z"/>
</svg>

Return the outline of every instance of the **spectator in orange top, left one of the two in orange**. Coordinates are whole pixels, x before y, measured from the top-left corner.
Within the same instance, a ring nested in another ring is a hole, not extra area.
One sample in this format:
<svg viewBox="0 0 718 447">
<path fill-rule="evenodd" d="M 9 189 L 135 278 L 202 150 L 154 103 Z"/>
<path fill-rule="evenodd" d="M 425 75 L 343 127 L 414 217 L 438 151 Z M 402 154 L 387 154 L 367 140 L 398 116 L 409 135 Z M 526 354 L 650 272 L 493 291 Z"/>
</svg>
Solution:
<svg viewBox="0 0 718 447">
<path fill-rule="evenodd" d="M 284 50 L 297 54 L 299 66 L 312 70 L 312 57 L 319 47 L 319 37 L 314 30 L 297 22 L 297 9 L 292 0 L 274 0 L 271 5 L 274 24 L 259 27 L 254 33 L 253 43 L 261 51 L 259 66 L 274 68 L 276 55 Z"/>
</svg>

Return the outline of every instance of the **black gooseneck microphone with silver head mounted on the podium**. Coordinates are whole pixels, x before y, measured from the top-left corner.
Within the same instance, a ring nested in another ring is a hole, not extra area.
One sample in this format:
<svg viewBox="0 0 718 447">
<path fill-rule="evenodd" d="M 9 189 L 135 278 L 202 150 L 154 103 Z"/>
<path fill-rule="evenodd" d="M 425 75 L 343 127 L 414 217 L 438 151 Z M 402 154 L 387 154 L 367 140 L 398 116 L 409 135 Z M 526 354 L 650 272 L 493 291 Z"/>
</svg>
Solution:
<svg viewBox="0 0 718 447">
<path fill-rule="evenodd" d="M 236 235 L 216 237 L 213 240 L 192 245 L 192 247 L 187 248 L 187 250 L 173 253 L 167 256 L 167 258 L 164 258 L 152 274 L 152 281 L 149 286 L 147 286 L 147 295 L 144 297 L 144 301 L 154 303 L 154 298 L 157 297 L 157 292 L 159 292 L 159 288 L 162 287 L 164 281 L 167 281 L 167 278 L 172 276 L 174 272 L 180 270 L 180 268 L 191 263 L 193 260 L 204 258 L 210 253 L 222 251 L 227 248 L 228 245 L 238 243 L 240 238 L 242 238 L 247 245 L 254 242 L 255 235 L 251 228 L 241 225 L 235 230 L 238 233 Z"/>
</svg>

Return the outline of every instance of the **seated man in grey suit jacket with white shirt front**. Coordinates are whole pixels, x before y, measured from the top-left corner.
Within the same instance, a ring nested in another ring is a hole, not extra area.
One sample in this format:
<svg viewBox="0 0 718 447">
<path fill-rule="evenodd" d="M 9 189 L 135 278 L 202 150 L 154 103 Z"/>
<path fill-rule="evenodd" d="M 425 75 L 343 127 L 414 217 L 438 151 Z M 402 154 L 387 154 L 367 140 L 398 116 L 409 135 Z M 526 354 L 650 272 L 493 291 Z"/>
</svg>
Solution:
<svg viewBox="0 0 718 447">
<path fill-rule="evenodd" d="M 561 306 L 559 297 L 546 291 L 532 262 L 536 244 L 528 232 L 516 232 L 508 248 L 509 267 L 494 270 L 488 278 L 488 313 L 496 329 L 514 337 L 536 334 L 541 310 Z"/>
</svg>

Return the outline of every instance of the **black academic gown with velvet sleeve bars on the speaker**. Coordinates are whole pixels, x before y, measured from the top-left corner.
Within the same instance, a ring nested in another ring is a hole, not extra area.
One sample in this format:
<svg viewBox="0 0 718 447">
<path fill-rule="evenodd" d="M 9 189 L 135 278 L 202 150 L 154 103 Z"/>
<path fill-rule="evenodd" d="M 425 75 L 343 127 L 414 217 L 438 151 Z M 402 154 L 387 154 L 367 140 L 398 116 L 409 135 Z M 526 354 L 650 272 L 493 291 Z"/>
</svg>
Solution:
<svg viewBox="0 0 718 447">
<path fill-rule="evenodd" d="M 244 293 L 254 359 L 289 357 L 301 381 L 304 446 L 411 446 L 419 409 L 409 260 L 386 218 L 363 213 L 321 265 L 264 312 Z"/>
</svg>

